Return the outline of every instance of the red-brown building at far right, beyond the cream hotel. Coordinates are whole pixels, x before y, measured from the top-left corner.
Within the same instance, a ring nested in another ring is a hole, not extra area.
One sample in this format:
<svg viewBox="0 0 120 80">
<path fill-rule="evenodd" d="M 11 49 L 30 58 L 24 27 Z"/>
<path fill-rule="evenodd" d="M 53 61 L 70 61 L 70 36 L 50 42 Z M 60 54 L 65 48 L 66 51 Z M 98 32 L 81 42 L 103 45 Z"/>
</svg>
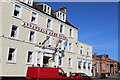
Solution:
<svg viewBox="0 0 120 80">
<path fill-rule="evenodd" d="M 93 67 L 94 76 L 101 73 L 118 74 L 118 61 L 110 59 L 107 54 L 93 55 Z"/>
</svg>

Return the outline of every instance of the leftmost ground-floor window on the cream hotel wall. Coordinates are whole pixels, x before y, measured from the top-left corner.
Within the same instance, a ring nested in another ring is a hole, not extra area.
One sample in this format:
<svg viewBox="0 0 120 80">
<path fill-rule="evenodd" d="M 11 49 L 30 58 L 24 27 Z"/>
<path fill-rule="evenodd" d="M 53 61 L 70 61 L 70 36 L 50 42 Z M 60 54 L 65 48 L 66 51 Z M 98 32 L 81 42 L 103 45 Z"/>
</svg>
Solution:
<svg viewBox="0 0 120 80">
<path fill-rule="evenodd" d="M 16 49 L 15 48 L 9 48 L 7 61 L 15 62 L 15 60 L 16 60 L 15 57 L 16 57 Z"/>
</svg>

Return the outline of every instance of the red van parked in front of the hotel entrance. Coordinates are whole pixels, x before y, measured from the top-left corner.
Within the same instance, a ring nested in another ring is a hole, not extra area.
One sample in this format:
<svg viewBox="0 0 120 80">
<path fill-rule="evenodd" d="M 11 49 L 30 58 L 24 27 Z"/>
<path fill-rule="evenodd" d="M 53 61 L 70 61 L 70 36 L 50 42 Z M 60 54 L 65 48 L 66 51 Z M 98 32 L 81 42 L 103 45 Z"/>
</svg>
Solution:
<svg viewBox="0 0 120 80">
<path fill-rule="evenodd" d="M 26 80 L 67 80 L 61 68 L 28 67 Z"/>
</svg>

